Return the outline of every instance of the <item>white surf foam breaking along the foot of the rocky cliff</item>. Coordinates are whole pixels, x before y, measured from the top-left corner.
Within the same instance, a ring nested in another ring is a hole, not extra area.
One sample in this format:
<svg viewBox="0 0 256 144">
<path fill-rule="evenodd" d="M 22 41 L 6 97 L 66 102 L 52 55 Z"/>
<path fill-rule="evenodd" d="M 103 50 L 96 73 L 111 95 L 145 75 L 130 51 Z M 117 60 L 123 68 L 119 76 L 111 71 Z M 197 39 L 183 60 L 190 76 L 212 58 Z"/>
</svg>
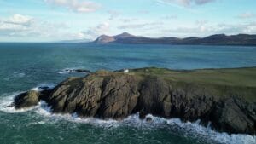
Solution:
<svg viewBox="0 0 256 144">
<path fill-rule="evenodd" d="M 195 138 L 200 140 L 201 142 L 208 143 L 224 143 L 224 144 L 255 144 L 256 136 L 254 135 L 229 135 L 227 133 L 220 133 L 211 129 L 210 124 L 207 127 L 201 126 L 200 120 L 195 123 L 187 122 L 183 123 L 179 118 L 159 118 L 154 117 L 153 115 L 148 114 L 146 118 L 151 118 L 152 120 L 147 122 L 145 119 L 140 119 L 139 114 L 134 114 L 125 118 L 124 120 L 117 121 L 113 119 L 102 120 L 97 118 L 79 118 L 76 113 L 73 114 L 55 114 L 51 112 L 51 108 L 48 107 L 45 101 L 40 101 L 37 107 L 32 107 L 30 109 L 23 110 L 15 110 L 14 107 L 6 107 L 13 101 L 15 95 L 19 93 L 15 93 L 9 96 L 4 96 L 0 99 L 0 111 L 2 112 L 27 112 L 34 111 L 39 115 L 43 116 L 45 119 L 38 121 L 36 124 L 47 124 L 49 122 L 55 122 L 59 120 L 67 120 L 74 123 L 82 123 L 82 124 L 93 124 L 95 126 L 101 126 L 106 128 L 117 128 L 119 126 L 131 126 L 138 127 L 140 129 L 157 129 L 157 128 L 165 128 L 166 130 L 170 130 L 171 133 L 175 135 L 183 135 L 190 138 Z"/>
</svg>

